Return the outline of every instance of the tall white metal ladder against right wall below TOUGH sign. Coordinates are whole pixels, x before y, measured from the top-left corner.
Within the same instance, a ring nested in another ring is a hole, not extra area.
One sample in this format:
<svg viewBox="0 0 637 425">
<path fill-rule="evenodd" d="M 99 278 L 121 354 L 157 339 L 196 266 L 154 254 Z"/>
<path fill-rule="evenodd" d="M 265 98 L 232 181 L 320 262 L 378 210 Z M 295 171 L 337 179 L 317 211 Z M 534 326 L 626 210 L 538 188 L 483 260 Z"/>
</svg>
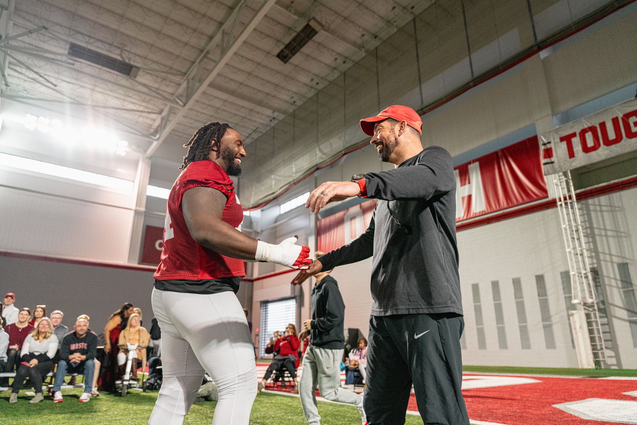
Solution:
<svg viewBox="0 0 637 425">
<path fill-rule="evenodd" d="M 582 220 L 577 208 L 571 172 L 557 173 L 554 177 L 555 198 L 559 212 L 566 257 L 571 274 L 573 304 L 582 305 L 589 330 L 590 348 L 598 367 L 606 367 L 606 348 L 599 321 L 598 297 L 590 271 L 589 252 L 583 234 Z"/>
</svg>

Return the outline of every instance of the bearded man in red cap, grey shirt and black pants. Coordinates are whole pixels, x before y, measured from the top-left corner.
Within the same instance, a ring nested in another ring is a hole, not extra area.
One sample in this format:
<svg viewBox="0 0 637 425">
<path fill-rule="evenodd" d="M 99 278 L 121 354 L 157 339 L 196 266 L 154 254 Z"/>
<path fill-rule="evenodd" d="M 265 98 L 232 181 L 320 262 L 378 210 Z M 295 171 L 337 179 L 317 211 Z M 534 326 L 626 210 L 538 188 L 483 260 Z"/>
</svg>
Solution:
<svg viewBox="0 0 637 425">
<path fill-rule="evenodd" d="M 353 196 L 378 203 L 365 233 L 318 257 L 292 285 L 373 257 L 363 396 L 369 424 L 404 424 L 413 384 L 424 423 L 469 425 L 461 393 L 454 165 L 444 148 L 422 147 L 421 125 L 412 108 L 399 105 L 361 120 L 381 161 L 396 168 L 326 182 L 311 192 L 306 207 L 312 212 Z"/>
</svg>

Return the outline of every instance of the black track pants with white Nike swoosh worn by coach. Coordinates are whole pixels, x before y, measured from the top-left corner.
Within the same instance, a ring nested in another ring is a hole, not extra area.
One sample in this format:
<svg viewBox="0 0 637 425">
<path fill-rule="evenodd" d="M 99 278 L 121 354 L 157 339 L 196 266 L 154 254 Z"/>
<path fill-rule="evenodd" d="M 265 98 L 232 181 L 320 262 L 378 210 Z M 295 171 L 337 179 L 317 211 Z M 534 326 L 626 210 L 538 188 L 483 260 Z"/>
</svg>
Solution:
<svg viewBox="0 0 637 425">
<path fill-rule="evenodd" d="M 403 425 L 412 391 L 425 424 L 469 425 L 455 313 L 371 316 L 364 408 L 369 425 Z"/>
</svg>

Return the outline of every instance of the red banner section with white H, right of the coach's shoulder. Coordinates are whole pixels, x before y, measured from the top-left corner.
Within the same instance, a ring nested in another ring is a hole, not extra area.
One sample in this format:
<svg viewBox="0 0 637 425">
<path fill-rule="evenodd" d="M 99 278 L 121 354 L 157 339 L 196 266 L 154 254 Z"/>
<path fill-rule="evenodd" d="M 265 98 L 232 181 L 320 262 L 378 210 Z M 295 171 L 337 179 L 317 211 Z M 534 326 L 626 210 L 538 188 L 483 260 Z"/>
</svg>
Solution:
<svg viewBox="0 0 637 425">
<path fill-rule="evenodd" d="M 454 171 L 457 222 L 548 197 L 538 136 L 466 162 Z"/>
</svg>

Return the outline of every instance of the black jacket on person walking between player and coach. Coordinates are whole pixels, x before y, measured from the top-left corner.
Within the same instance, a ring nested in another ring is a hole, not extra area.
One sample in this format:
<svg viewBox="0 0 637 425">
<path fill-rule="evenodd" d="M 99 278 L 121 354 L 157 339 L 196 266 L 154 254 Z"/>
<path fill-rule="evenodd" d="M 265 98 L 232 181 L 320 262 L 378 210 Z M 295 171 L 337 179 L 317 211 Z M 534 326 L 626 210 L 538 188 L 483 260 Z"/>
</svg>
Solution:
<svg viewBox="0 0 637 425">
<path fill-rule="evenodd" d="M 315 347 L 340 350 L 345 347 L 343 319 L 345 303 L 338 284 L 331 276 L 324 277 L 312 289 L 312 321 L 310 343 Z"/>
</svg>

